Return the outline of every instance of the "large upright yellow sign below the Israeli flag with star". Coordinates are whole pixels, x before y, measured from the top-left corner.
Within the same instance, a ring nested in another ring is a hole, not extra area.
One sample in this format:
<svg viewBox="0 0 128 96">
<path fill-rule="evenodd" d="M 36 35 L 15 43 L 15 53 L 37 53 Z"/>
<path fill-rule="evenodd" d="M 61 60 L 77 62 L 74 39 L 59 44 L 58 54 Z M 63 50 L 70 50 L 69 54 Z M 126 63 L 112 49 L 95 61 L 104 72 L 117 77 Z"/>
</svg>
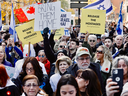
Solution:
<svg viewBox="0 0 128 96">
<path fill-rule="evenodd" d="M 105 10 L 82 9 L 80 32 L 104 34 L 105 32 Z"/>
</svg>

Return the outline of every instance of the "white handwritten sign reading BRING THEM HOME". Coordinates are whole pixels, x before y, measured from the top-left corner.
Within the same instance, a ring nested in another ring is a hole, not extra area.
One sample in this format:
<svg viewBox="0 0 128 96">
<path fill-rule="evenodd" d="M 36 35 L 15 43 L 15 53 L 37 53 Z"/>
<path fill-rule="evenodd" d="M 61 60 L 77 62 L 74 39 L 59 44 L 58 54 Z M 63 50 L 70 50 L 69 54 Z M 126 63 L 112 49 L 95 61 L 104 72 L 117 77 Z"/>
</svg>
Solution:
<svg viewBox="0 0 128 96">
<path fill-rule="evenodd" d="M 60 14 L 60 1 L 36 5 L 34 31 L 42 31 L 46 27 L 60 29 Z"/>
</svg>

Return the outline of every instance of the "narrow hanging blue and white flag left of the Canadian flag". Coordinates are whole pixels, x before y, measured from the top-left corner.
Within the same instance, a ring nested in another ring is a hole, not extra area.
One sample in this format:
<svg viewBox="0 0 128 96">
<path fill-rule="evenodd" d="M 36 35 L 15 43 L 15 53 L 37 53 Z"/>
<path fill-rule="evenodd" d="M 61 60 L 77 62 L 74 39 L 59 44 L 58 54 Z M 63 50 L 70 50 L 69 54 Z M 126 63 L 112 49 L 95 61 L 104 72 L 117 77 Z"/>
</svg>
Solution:
<svg viewBox="0 0 128 96">
<path fill-rule="evenodd" d="M 17 33 L 15 30 L 15 18 L 14 18 L 14 11 L 13 11 L 13 3 L 12 3 L 11 22 L 10 22 L 10 27 L 9 27 L 9 33 L 13 35 L 14 42 L 18 41 Z"/>
</svg>

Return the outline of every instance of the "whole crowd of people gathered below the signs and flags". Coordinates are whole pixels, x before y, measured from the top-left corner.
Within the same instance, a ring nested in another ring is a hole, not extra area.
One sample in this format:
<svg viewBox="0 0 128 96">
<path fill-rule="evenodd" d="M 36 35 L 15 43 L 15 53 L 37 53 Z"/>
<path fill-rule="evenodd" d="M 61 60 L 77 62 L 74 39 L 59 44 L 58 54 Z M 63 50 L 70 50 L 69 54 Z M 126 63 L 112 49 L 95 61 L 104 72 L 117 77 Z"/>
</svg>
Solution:
<svg viewBox="0 0 128 96">
<path fill-rule="evenodd" d="M 128 28 L 118 35 L 116 24 L 105 34 L 68 28 L 70 36 L 54 40 L 45 28 L 36 44 L 14 42 L 8 31 L 0 33 L 1 96 L 127 96 Z M 29 49 L 30 48 L 30 51 Z M 15 68 L 9 77 L 6 66 Z M 113 81 L 112 70 L 123 69 L 123 87 Z"/>
</svg>

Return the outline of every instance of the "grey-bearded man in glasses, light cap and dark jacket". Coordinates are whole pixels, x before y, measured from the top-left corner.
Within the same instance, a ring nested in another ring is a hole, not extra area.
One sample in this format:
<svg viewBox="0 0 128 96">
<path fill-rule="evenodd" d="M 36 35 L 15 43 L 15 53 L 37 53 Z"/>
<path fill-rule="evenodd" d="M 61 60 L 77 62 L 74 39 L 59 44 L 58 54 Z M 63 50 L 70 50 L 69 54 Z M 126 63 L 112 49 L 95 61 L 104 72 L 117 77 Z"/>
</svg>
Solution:
<svg viewBox="0 0 128 96">
<path fill-rule="evenodd" d="M 92 56 L 90 55 L 89 50 L 86 47 L 79 47 L 76 52 L 76 63 L 72 64 L 67 69 L 66 74 L 71 74 L 76 77 L 77 70 L 90 68 L 97 74 L 101 84 L 101 88 L 102 90 L 104 90 L 100 73 L 100 66 L 97 63 L 90 63 L 91 57 Z"/>
</svg>

